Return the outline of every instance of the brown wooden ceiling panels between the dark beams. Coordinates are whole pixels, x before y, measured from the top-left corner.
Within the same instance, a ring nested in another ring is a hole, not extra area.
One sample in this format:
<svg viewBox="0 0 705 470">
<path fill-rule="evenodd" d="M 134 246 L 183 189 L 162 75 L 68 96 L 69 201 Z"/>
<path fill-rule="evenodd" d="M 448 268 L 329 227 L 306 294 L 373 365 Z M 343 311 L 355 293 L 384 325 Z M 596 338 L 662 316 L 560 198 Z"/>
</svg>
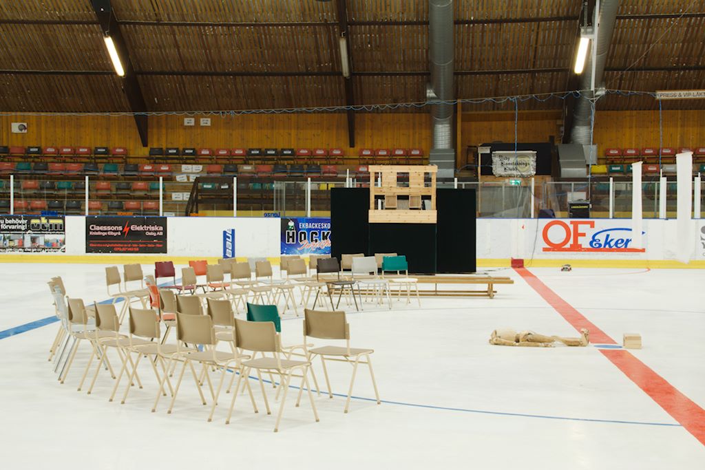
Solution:
<svg viewBox="0 0 705 470">
<path fill-rule="evenodd" d="M 149 111 L 345 104 L 337 0 L 113 0 Z M 458 98 L 563 92 L 580 0 L 456 0 Z M 426 0 L 345 0 L 355 104 L 424 101 Z M 685 15 L 682 13 L 685 12 Z M 622 0 L 606 87 L 705 83 L 704 0 Z M 0 110 L 129 111 L 90 0 L 0 2 Z M 703 108 L 705 100 L 670 108 Z M 513 109 L 513 104 L 466 105 Z M 560 99 L 522 109 L 560 109 Z M 650 97 L 601 109 L 654 109 Z"/>
</svg>

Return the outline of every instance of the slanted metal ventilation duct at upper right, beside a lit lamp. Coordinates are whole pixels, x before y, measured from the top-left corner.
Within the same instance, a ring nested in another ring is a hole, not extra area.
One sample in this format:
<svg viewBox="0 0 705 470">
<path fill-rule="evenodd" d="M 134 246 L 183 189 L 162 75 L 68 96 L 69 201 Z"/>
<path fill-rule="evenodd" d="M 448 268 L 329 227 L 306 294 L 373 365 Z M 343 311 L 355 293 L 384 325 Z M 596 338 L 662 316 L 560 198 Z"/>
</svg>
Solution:
<svg viewBox="0 0 705 470">
<path fill-rule="evenodd" d="M 595 89 L 603 88 L 603 75 L 605 71 L 605 62 L 607 53 L 612 43 L 612 32 L 617 19 L 617 11 L 619 9 L 620 0 L 601 0 L 600 10 L 598 13 L 598 29 L 597 29 L 597 51 L 595 60 Z M 593 42 L 593 47 L 594 47 Z M 584 97 L 580 97 L 575 104 L 573 113 L 573 125 L 570 130 L 570 142 L 572 144 L 590 144 L 590 116 L 591 106 L 590 100 L 596 94 L 591 91 L 592 83 L 592 54 L 588 54 L 587 63 L 585 64 L 584 73 L 580 79 L 580 89 L 590 90 L 584 92 Z M 589 99 L 586 99 L 589 98 Z"/>
</svg>

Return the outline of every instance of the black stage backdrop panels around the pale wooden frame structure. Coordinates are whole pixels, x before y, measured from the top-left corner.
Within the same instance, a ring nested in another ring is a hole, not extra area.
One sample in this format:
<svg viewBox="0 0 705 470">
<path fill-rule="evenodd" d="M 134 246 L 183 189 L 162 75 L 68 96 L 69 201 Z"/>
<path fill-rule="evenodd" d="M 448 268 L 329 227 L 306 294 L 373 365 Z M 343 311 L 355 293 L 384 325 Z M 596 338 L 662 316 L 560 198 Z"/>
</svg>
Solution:
<svg viewBox="0 0 705 470">
<path fill-rule="evenodd" d="M 410 273 L 472 273 L 474 190 L 436 190 L 438 223 L 368 223 L 369 189 L 331 190 L 331 255 L 396 252 Z"/>
</svg>

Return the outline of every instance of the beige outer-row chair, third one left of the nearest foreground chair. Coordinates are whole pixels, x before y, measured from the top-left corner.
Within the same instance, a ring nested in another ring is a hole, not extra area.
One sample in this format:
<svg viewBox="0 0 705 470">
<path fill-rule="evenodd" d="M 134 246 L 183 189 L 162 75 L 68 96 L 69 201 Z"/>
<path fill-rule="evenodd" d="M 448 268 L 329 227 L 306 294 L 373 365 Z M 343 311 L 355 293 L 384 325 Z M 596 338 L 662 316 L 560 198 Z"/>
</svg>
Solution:
<svg viewBox="0 0 705 470">
<path fill-rule="evenodd" d="M 96 326 L 96 332 L 95 333 L 104 333 L 104 335 L 95 335 L 94 341 L 92 341 L 92 344 L 94 346 L 94 353 L 96 356 L 98 356 L 100 359 L 98 361 L 98 364 L 95 368 L 95 372 L 93 374 L 93 379 L 90 383 L 90 387 L 88 388 L 88 395 L 90 395 L 93 391 L 93 387 L 95 385 L 95 381 L 98 378 L 98 373 L 100 372 L 100 369 L 102 369 L 102 365 L 104 362 L 108 360 L 108 349 L 114 349 L 118 353 L 118 356 L 120 357 L 120 361 L 122 363 L 122 368 L 121 370 L 124 371 L 125 367 L 127 366 L 127 362 L 130 363 L 130 367 L 133 369 L 135 368 L 135 364 L 133 363 L 133 360 L 131 357 L 129 357 L 125 352 L 125 347 L 128 347 L 130 345 L 130 339 L 127 338 L 125 335 L 121 335 L 119 333 L 120 330 L 120 321 L 118 321 L 118 315 L 115 310 L 115 306 L 113 304 L 97 304 L 96 302 L 93 303 L 96 315 L 95 315 L 95 326 Z M 147 342 L 145 340 L 142 340 L 142 342 Z M 88 371 L 88 368 L 90 367 L 90 361 L 88 365 L 86 366 L 86 372 Z M 85 374 L 84 374 L 85 376 Z M 112 373 L 111 371 L 111 376 L 112 378 L 115 378 L 115 374 Z M 133 380 L 137 381 L 137 385 L 142 388 L 142 383 L 140 382 L 140 377 L 137 376 L 137 373 L 134 372 L 133 376 L 130 378 L 130 385 L 133 385 Z M 117 388 L 117 383 L 115 384 L 115 388 Z M 115 388 L 113 389 L 113 392 L 115 392 Z M 79 387 L 80 390 L 80 387 Z M 110 400 L 112 401 L 113 396 L 111 395 Z"/>
</svg>

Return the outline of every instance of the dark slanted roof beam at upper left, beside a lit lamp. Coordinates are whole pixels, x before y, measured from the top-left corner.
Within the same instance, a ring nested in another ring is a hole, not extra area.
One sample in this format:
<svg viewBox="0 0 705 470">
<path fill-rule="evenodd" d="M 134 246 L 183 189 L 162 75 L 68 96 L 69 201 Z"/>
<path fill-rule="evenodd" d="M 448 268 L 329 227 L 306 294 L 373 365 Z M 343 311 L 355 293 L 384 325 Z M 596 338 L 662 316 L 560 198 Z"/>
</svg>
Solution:
<svg viewBox="0 0 705 470">
<path fill-rule="evenodd" d="M 113 39 L 115 49 L 118 51 L 118 57 L 125 70 L 125 76 L 122 79 L 123 92 L 128 99 L 130 111 L 135 113 L 135 125 L 137 125 L 137 132 L 140 134 L 142 147 L 147 147 L 149 145 L 147 140 L 147 103 L 142 95 L 140 82 L 137 81 L 137 74 L 135 74 L 135 68 L 130 60 L 130 52 L 120 31 L 118 20 L 115 18 L 111 0 L 91 0 L 91 4 L 104 34 Z"/>
</svg>

